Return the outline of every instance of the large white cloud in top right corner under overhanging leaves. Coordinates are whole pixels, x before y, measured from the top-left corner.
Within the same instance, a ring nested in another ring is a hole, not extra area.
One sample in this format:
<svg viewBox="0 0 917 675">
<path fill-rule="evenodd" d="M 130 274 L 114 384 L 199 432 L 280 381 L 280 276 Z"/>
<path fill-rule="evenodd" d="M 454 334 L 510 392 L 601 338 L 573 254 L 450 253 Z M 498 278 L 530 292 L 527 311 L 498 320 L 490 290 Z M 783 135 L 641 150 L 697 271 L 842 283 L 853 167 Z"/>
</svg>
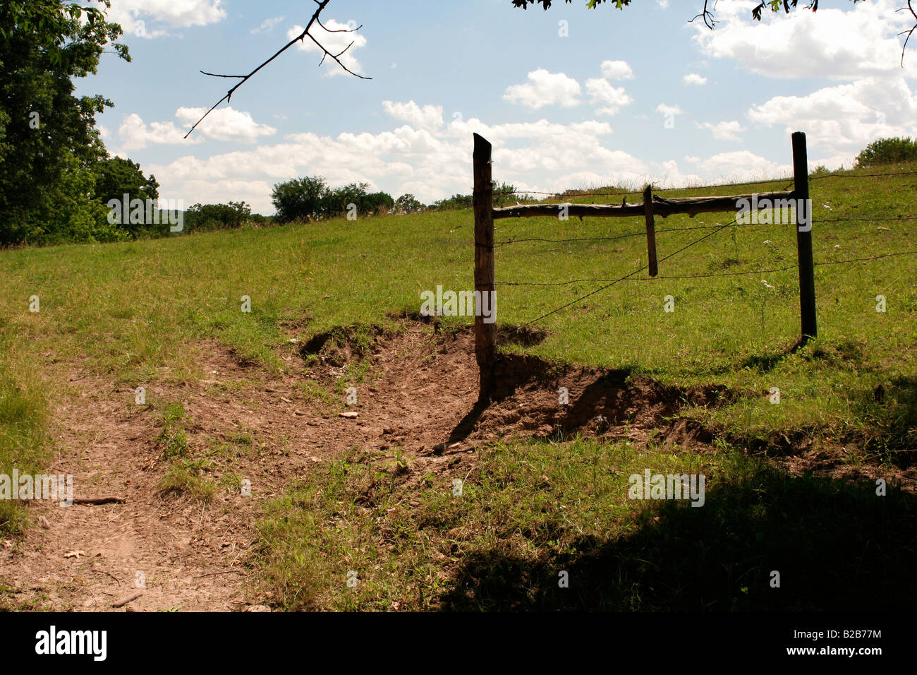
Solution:
<svg viewBox="0 0 917 675">
<path fill-rule="evenodd" d="M 702 51 L 714 58 L 733 59 L 767 77 L 850 80 L 878 74 L 900 76 L 901 43 L 896 35 L 911 26 L 910 13 L 895 12 L 899 0 L 873 0 L 845 9 L 822 7 L 814 13 L 766 10 L 760 22 L 751 18 L 755 5 L 718 6 L 715 30 L 702 24 L 696 27 L 694 39 Z"/>
</svg>

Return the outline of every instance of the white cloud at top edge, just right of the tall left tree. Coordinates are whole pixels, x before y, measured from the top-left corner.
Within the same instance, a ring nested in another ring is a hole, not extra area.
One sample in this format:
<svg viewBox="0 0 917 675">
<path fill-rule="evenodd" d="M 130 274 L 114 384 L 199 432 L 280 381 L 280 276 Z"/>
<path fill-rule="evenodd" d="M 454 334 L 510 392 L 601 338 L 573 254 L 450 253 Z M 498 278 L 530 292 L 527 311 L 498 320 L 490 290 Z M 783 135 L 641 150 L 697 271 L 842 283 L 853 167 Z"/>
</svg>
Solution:
<svg viewBox="0 0 917 675">
<path fill-rule="evenodd" d="M 126 36 L 158 38 L 169 28 L 206 26 L 226 18 L 223 0 L 116 0 L 109 20 L 121 24 Z"/>
</svg>

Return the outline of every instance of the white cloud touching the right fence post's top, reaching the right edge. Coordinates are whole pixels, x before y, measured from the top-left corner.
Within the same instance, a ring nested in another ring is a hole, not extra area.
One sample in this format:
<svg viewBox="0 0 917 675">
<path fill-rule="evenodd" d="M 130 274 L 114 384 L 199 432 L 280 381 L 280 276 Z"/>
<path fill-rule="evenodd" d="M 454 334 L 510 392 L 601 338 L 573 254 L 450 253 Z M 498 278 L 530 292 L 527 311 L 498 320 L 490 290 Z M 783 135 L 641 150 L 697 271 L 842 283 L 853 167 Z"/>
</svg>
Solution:
<svg viewBox="0 0 917 675">
<path fill-rule="evenodd" d="M 747 116 L 781 125 L 788 134 L 805 131 L 810 147 L 836 155 L 852 156 L 881 137 L 917 134 L 917 101 L 903 77 L 868 77 L 809 96 L 775 96 Z"/>
</svg>

